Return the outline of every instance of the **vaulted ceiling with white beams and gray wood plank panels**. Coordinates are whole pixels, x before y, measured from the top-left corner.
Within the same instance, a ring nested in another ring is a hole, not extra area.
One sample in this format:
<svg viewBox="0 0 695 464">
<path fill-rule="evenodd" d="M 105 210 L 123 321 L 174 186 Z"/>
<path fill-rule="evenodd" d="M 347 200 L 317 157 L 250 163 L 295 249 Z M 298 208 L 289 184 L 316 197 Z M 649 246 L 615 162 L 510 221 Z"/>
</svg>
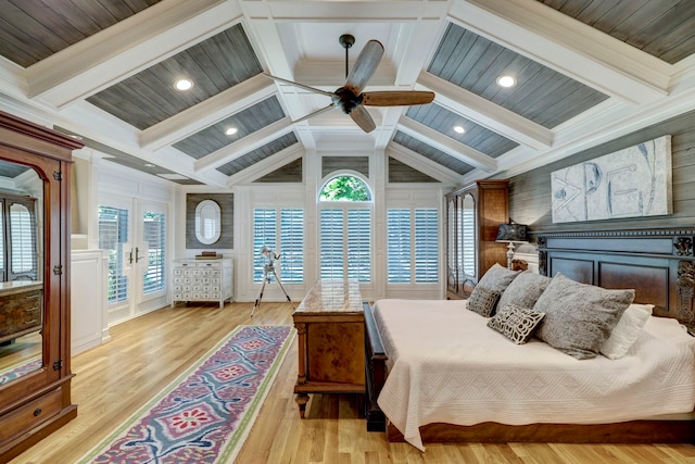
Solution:
<svg viewBox="0 0 695 464">
<path fill-rule="evenodd" d="M 266 75 L 332 92 L 370 39 L 384 54 L 365 90 L 434 101 L 368 106 L 366 134 L 336 109 L 304 118 L 330 98 Z M 695 109 L 692 0 L 3 0 L 0 55 L 0 109 L 215 187 L 321 152 L 462 184 Z"/>
</svg>

